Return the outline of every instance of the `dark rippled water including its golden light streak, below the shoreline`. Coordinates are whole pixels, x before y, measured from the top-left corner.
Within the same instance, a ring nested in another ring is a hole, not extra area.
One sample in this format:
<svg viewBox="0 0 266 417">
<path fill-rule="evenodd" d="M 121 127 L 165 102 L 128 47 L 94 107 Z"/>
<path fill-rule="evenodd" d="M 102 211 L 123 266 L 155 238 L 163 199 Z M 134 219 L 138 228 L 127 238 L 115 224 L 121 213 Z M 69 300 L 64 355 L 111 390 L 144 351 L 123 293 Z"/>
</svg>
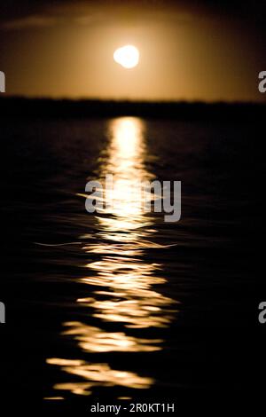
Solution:
<svg viewBox="0 0 266 417">
<path fill-rule="evenodd" d="M 253 126 L 17 118 L 1 124 L 5 385 L 88 405 L 237 396 L 254 384 L 257 325 Z M 85 210 L 112 173 L 113 209 Z M 129 193 L 181 181 L 166 223 Z"/>
</svg>

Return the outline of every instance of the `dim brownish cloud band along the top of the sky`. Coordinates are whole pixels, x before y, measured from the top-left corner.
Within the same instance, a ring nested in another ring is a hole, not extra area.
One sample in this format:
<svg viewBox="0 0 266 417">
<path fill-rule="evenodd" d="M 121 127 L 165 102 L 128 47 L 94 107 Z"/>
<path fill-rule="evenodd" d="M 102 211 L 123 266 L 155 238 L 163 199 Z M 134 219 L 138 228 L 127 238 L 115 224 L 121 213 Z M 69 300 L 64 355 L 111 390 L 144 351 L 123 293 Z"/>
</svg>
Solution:
<svg viewBox="0 0 266 417">
<path fill-rule="evenodd" d="M 0 29 L 5 31 L 30 30 L 38 28 L 51 28 L 55 26 L 90 26 L 95 23 L 117 22 L 120 25 L 137 25 L 139 22 L 176 21 L 176 24 L 187 24 L 192 20 L 192 13 L 169 9 L 168 7 L 147 7 L 147 4 L 122 4 L 99 1 L 99 4 L 90 4 L 83 1 L 76 3 L 66 2 L 54 4 L 52 7 L 43 7 L 43 11 L 29 13 L 23 17 L 13 17 L 0 23 Z M 156 4 L 156 2 L 155 2 Z"/>
</svg>

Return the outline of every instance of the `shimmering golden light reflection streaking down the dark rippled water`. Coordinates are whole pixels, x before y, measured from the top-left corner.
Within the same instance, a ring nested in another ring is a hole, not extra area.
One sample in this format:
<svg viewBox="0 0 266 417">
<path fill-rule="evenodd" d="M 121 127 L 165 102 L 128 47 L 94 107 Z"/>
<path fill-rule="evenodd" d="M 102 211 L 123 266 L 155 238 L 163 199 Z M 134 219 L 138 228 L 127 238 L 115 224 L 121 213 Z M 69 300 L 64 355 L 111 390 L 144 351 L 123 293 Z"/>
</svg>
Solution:
<svg viewBox="0 0 266 417">
<path fill-rule="evenodd" d="M 168 327 L 173 319 L 174 301 L 153 287 L 165 282 L 160 277 L 161 265 L 147 258 L 151 249 L 165 247 L 153 242 L 153 216 L 144 213 L 141 201 L 147 196 L 132 193 L 132 185 L 153 179 L 145 169 L 145 122 L 132 117 L 114 119 L 109 122 L 108 137 L 110 144 L 100 158 L 98 177 L 113 174 L 113 193 L 104 194 L 106 208 L 96 216 L 97 243 L 94 240 L 83 246 L 85 252 L 96 254 L 98 260 L 84 265 L 88 274 L 82 283 L 90 286 L 90 296 L 77 300 L 88 308 L 88 315 L 98 326 L 66 322 L 63 332 L 73 337 L 82 352 L 90 354 L 90 360 L 96 352 L 160 350 L 163 341 L 143 337 L 144 329 Z M 112 206 L 108 205 L 108 199 L 112 199 Z M 105 323 L 120 326 L 121 331 L 104 330 Z M 130 334 L 132 328 L 141 336 Z M 60 358 L 47 361 L 61 366 L 67 374 L 82 377 L 83 382 L 54 386 L 74 394 L 89 395 L 97 386 L 145 389 L 153 384 L 152 378 L 113 370 L 106 363 Z"/>
</svg>

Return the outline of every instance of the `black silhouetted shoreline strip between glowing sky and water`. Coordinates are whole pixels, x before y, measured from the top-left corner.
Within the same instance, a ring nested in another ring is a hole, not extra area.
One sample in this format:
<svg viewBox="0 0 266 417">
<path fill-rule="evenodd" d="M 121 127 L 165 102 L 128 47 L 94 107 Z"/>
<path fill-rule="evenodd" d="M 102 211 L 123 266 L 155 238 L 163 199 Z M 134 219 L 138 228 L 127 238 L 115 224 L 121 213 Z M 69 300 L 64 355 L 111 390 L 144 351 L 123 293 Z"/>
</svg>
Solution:
<svg viewBox="0 0 266 417">
<path fill-rule="evenodd" d="M 204 103 L 116 101 L 99 99 L 51 99 L 0 97 L 0 118 L 90 118 L 141 116 L 182 121 L 256 122 L 265 119 L 266 103 Z"/>
</svg>

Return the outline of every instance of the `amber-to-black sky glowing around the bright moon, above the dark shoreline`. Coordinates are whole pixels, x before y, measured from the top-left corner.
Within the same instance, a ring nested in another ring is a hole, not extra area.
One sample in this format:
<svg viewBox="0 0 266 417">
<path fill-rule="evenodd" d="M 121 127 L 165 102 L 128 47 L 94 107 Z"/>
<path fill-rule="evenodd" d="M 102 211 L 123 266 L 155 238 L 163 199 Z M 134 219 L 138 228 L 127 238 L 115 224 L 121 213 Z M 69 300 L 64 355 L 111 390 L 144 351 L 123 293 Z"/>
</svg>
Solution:
<svg viewBox="0 0 266 417">
<path fill-rule="evenodd" d="M 23 1 L 0 5 L 8 94 L 264 100 L 266 2 Z M 126 70 L 113 51 L 134 44 Z"/>
</svg>

